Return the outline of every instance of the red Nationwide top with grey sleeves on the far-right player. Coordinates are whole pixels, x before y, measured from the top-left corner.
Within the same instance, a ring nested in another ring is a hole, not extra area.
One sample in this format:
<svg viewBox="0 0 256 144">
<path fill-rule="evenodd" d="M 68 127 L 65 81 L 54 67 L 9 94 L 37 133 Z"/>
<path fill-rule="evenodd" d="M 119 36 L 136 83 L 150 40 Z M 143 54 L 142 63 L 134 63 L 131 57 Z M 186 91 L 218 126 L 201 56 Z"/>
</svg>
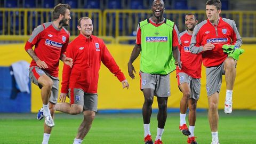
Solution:
<svg viewBox="0 0 256 144">
<path fill-rule="evenodd" d="M 203 46 L 206 43 L 214 44 L 214 49 L 203 52 Z M 222 50 L 223 44 L 232 44 L 237 47 L 242 45 L 242 38 L 235 21 L 220 17 L 217 26 L 214 26 L 209 20 L 204 20 L 194 28 L 189 51 L 202 52 L 204 66 L 215 67 L 221 65 L 227 58 L 227 54 Z"/>
</svg>

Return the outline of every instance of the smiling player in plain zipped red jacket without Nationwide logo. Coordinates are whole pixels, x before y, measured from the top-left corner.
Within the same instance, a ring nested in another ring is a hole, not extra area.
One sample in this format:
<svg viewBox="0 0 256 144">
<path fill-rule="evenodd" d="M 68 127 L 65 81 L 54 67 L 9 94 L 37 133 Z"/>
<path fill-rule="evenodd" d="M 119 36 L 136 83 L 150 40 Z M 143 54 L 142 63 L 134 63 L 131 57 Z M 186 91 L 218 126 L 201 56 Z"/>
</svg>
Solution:
<svg viewBox="0 0 256 144">
<path fill-rule="evenodd" d="M 80 34 L 69 43 L 66 52 L 67 57 L 73 59 L 74 65 L 72 68 L 67 65 L 63 67 L 60 94 L 62 103 L 56 105 L 56 110 L 63 113 L 75 115 L 83 112 L 84 119 L 78 128 L 74 144 L 82 143 L 97 112 L 97 87 L 101 62 L 118 78 L 123 88 L 129 87 L 105 43 L 92 35 L 92 20 L 88 17 L 79 19 L 77 29 Z M 65 102 L 67 95 L 70 103 Z"/>
</svg>

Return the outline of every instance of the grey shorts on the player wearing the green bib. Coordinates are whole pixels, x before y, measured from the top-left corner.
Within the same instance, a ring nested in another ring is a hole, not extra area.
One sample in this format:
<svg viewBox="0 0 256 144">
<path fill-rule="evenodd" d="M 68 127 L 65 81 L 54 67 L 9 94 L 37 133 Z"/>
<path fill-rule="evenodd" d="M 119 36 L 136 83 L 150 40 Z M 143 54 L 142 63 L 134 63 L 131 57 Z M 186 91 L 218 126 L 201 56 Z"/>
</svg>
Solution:
<svg viewBox="0 0 256 144">
<path fill-rule="evenodd" d="M 157 97 L 169 97 L 171 95 L 170 74 L 157 75 L 140 71 L 140 89 L 153 89 Z"/>
</svg>

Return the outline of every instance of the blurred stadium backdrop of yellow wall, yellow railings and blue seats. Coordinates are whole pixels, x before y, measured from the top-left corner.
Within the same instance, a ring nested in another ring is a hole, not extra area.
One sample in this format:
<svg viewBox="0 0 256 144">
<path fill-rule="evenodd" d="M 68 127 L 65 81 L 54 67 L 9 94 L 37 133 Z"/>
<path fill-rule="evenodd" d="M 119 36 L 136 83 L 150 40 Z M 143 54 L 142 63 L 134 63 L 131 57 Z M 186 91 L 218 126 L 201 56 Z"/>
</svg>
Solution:
<svg viewBox="0 0 256 144">
<path fill-rule="evenodd" d="M 37 0 L 0 0 L 0 66 L 9 68 L 13 62 L 25 60 L 30 62 L 31 58 L 24 50 L 24 45 L 31 34 L 31 31 L 43 22 L 51 21 L 51 13 L 55 4 L 69 3 L 71 5 L 71 22 L 67 29 L 70 31 L 71 39 L 78 34 L 76 25 L 80 17 L 90 17 L 93 20 L 93 34 L 101 37 L 107 43 L 107 47 L 113 54 L 119 67 L 124 72 L 130 83 L 129 90 L 123 90 L 121 83 L 111 74 L 106 67 L 101 66 L 99 78 L 99 103 L 100 110 L 110 110 L 117 112 L 134 111 L 141 109 L 143 95 L 139 90 L 139 75 L 131 79 L 127 74 L 127 61 L 129 60 L 132 48 L 134 46 L 135 34 L 138 22 L 151 17 L 151 1 L 115 1 L 115 0 L 94 0 L 94 1 L 37 1 Z M 164 17 L 173 20 L 182 32 L 185 30 L 184 17 L 188 12 L 197 15 L 199 22 L 206 19 L 205 2 L 172 0 L 166 1 L 166 11 Z M 256 42 L 256 12 L 254 1 L 222 1 L 223 17 L 234 19 L 239 33 L 243 38 L 243 49 L 245 53 L 239 58 L 237 64 L 237 77 L 234 87 L 234 109 L 256 110 L 256 97 L 253 90 L 256 88 L 254 63 L 255 42 Z M 60 64 L 59 77 L 61 82 L 62 63 Z M 139 59 L 134 62 L 135 69 L 139 72 Z M 14 89 L 13 85 L 9 87 L 4 85 L 10 79 L 1 74 L 0 84 L 1 101 L 0 110 L 6 109 L 6 105 L 15 101 L 11 99 L 10 92 Z M 1 87 L 4 85 L 4 87 Z M 225 99 L 226 83 L 223 77 L 223 83 L 220 93 L 220 105 L 222 109 Z M 6 92 L 6 93 L 5 93 Z M 29 94 L 30 95 L 30 94 Z M 19 96 L 19 95 L 18 95 Z M 171 97 L 168 101 L 169 108 L 179 108 L 181 92 L 177 86 L 175 72 L 171 73 Z M 2 99 L 2 98 L 1 98 Z M 8 100 L 5 100 L 8 99 Z M 18 100 L 18 98 L 16 98 Z M 19 99 L 20 100 L 20 99 Z M 24 97 L 19 103 L 29 103 L 29 111 L 36 112 L 42 106 L 40 91 L 37 86 L 31 84 L 31 98 Z M 201 98 L 198 101 L 198 108 L 207 108 L 207 97 L 205 90 L 205 68 L 202 71 Z M 154 108 L 157 103 L 154 102 Z M 0 111 L 1 112 L 1 111 Z M 11 112 L 17 112 L 13 109 Z"/>
</svg>

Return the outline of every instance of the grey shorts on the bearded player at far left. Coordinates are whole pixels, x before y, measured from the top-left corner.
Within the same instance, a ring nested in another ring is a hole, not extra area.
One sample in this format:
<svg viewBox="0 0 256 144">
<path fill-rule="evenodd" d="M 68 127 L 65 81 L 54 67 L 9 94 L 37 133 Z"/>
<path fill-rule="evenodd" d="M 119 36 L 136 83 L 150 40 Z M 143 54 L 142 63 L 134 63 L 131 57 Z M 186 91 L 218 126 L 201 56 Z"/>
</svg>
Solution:
<svg viewBox="0 0 256 144">
<path fill-rule="evenodd" d="M 42 88 L 42 85 L 38 83 L 38 78 L 42 75 L 47 75 L 52 79 L 53 85 L 52 85 L 52 90 L 51 90 L 51 95 L 50 95 L 50 102 L 52 103 L 57 103 L 58 101 L 58 92 L 59 92 L 59 78 L 51 76 L 50 74 L 46 73 L 43 69 L 37 67 L 37 66 L 32 66 L 29 68 L 29 78 L 31 82 L 39 86 L 39 88 Z"/>
</svg>

